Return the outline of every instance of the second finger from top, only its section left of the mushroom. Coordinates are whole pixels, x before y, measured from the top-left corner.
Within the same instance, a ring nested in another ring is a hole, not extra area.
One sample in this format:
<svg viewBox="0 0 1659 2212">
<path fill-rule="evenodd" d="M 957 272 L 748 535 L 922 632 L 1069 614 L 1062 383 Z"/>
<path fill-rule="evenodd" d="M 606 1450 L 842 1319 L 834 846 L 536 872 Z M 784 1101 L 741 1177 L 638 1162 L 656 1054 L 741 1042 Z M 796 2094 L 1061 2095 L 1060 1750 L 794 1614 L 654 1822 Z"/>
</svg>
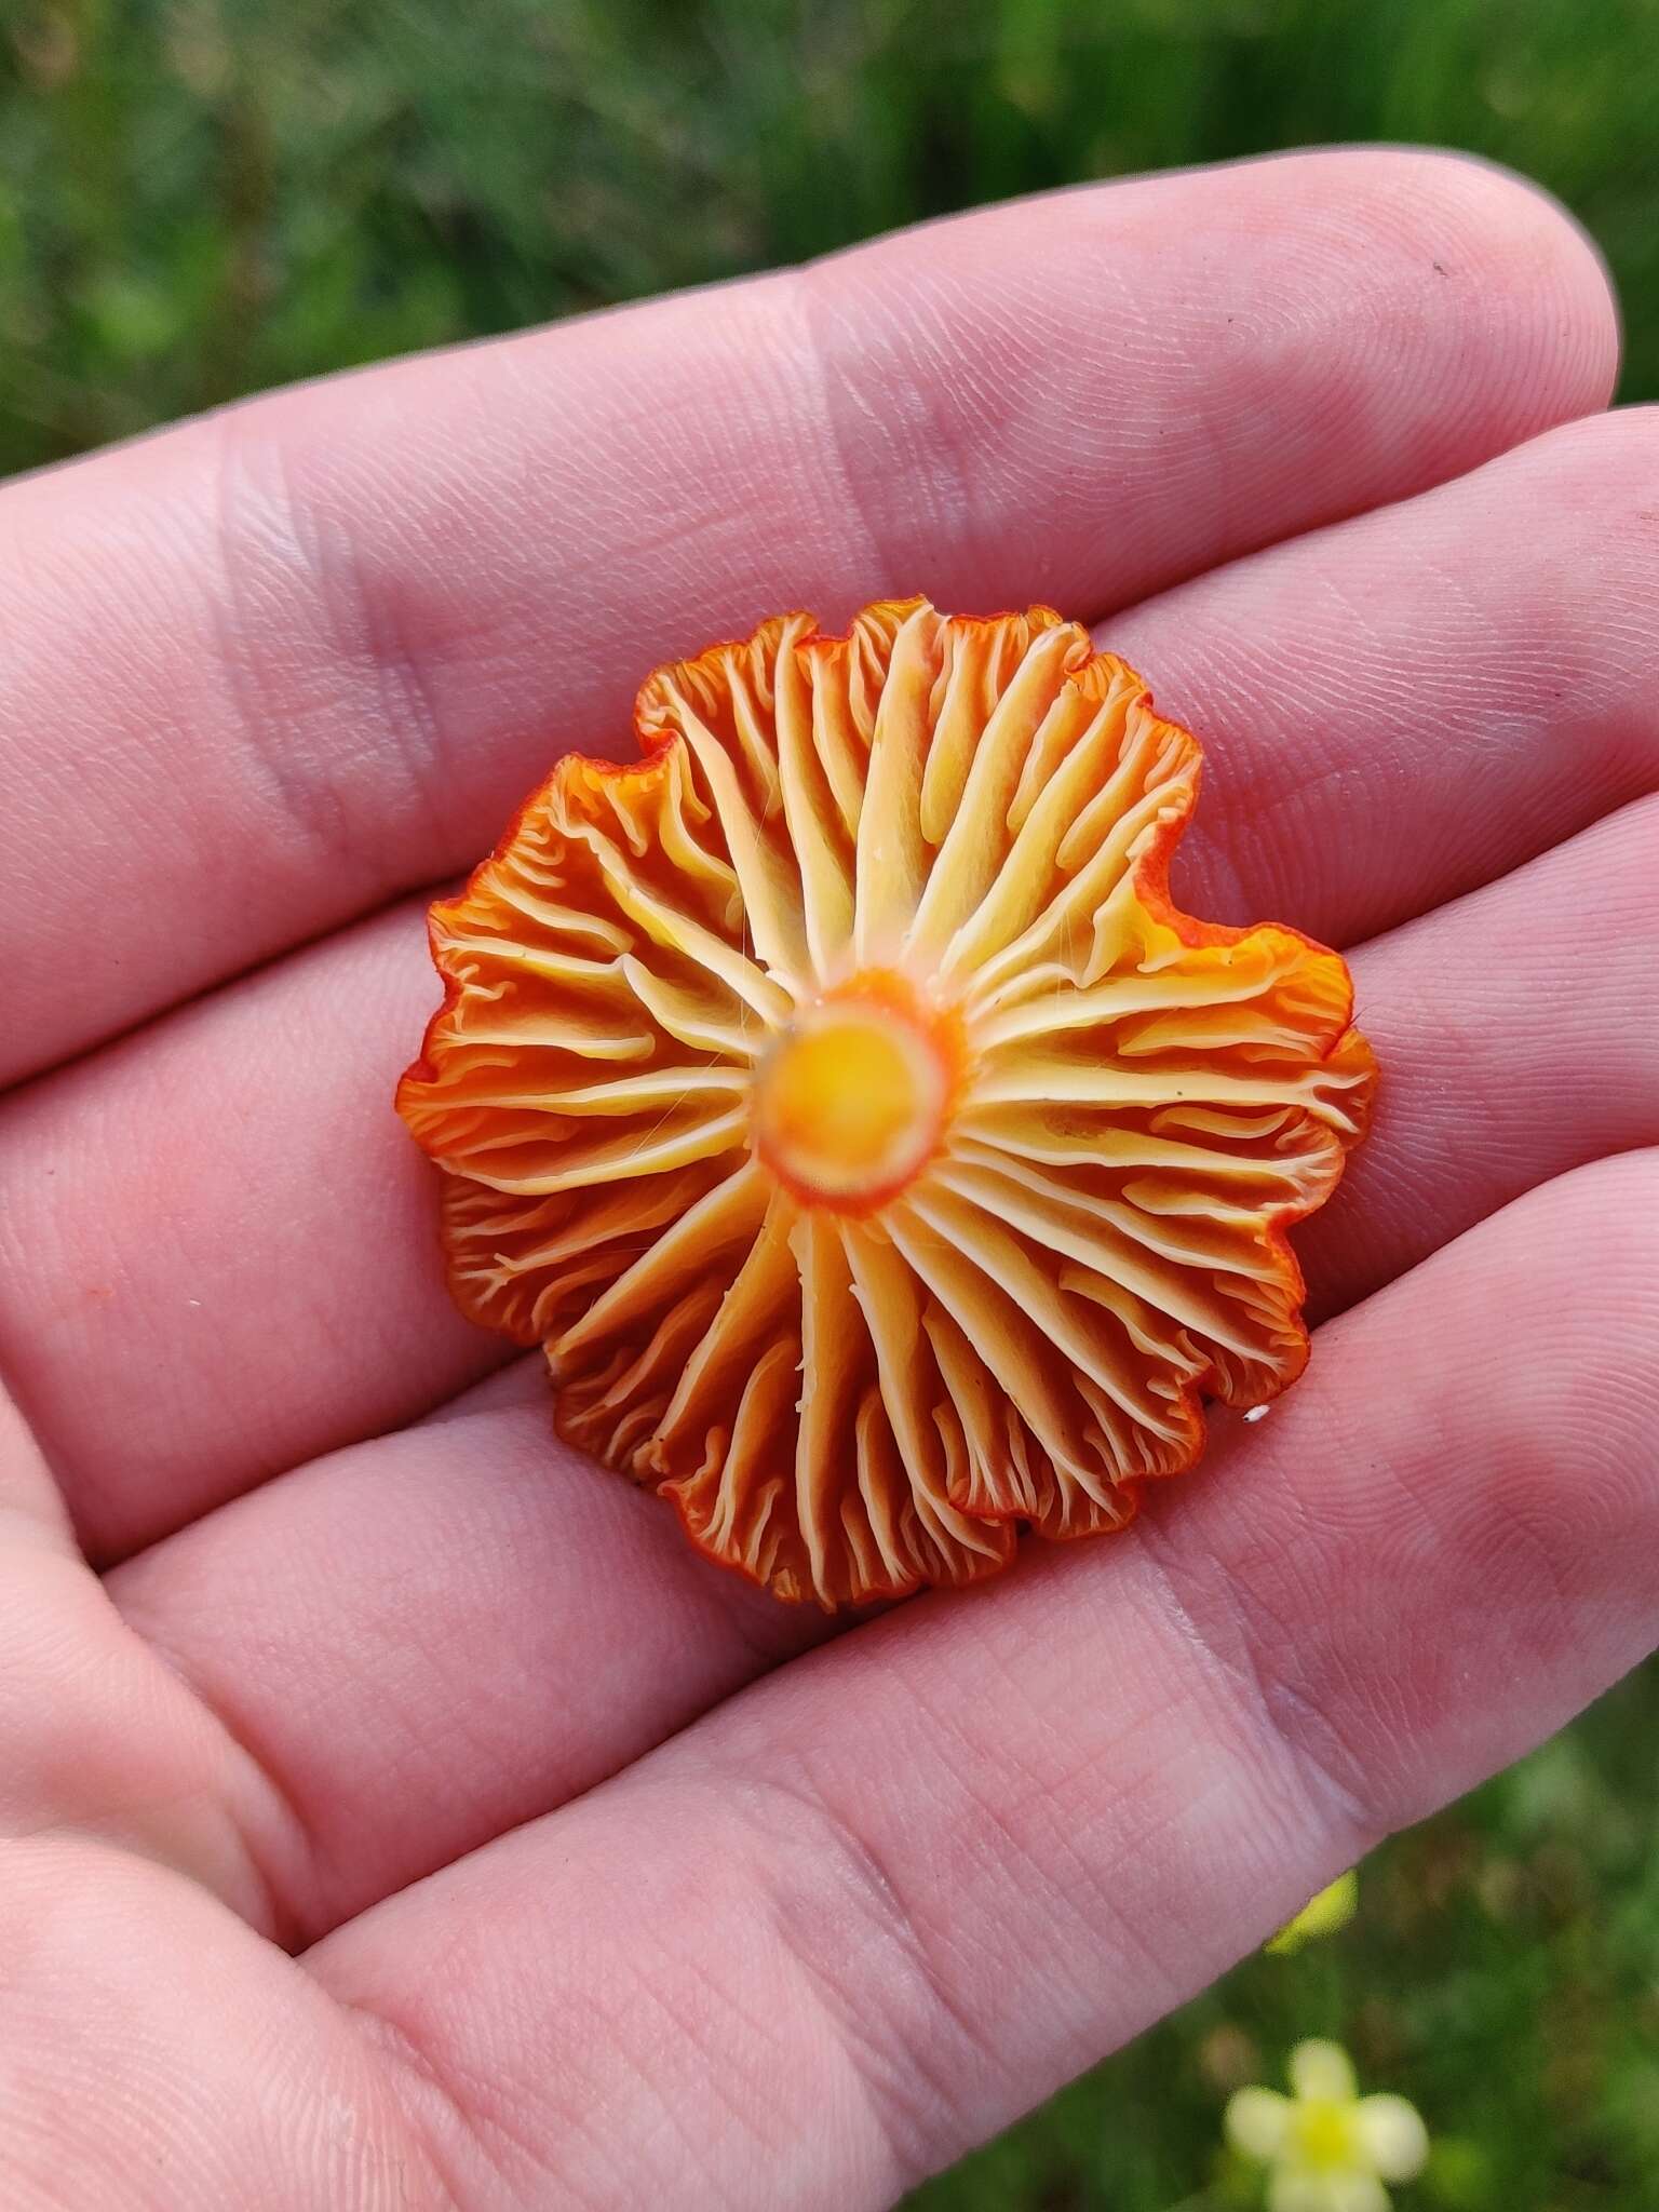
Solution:
<svg viewBox="0 0 1659 2212">
<path fill-rule="evenodd" d="M 95 1559 L 513 1356 L 392 1110 L 431 998 L 405 905 L 0 1104 L 0 1365 Z"/>
</svg>

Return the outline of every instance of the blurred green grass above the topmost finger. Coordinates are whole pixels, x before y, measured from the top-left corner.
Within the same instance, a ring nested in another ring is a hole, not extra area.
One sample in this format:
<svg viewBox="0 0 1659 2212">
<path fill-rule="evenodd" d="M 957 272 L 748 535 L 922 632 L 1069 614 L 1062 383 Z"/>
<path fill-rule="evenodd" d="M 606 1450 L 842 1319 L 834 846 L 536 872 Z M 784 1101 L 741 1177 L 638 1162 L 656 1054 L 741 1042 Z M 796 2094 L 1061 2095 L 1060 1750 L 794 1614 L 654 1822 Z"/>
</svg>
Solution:
<svg viewBox="0 0 1659 2212">
<path fill-rule="evenodd" d="M 1006 192 L 1334 137 L 1553 186 L 1659 392 L 1659 0 L 7 0 L 0 469 Z"/>
</svg>

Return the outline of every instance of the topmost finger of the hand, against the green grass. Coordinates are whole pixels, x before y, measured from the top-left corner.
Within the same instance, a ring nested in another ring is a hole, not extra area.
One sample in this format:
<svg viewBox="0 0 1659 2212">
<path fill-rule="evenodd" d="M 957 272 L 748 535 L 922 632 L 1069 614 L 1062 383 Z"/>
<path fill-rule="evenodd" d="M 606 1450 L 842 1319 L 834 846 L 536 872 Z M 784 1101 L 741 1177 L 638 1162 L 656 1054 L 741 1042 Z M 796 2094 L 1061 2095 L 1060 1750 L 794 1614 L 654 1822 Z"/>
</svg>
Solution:
<svg viewBox="0 0 1659 2212">
<path fill-rule="evenodd" d="M 1537 192 L 1294 155 L 927 226 L 18 484 L 0 878 L 35 936 L 0 1075 L 471 860 L 549 752 L 626 745 L 648 668 L 710 635 L 896 588 L 1104 613 L 1599 407 L 1613 365 L 1601 270 Z"/>
</svg>

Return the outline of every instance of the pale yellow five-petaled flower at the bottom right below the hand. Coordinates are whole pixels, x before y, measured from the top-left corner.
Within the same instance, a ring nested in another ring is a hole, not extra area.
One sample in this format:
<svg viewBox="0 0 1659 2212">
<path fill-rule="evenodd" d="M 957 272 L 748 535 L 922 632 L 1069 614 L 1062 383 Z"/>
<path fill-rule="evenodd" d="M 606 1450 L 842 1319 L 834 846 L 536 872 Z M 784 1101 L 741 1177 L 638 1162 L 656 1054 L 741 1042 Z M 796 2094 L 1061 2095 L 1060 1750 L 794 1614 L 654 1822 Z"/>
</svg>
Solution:
<svg viewBox="0 0 1659 2212">
<path fill-rule="evenodd" d="M 1228 2141 L 1267 2168 L 1267 2212 L 1389 2212 L 1383 2183 L 1416 2181 L 1429 2157 L 1416 2106 L 1360 2097 L 1340 2044 L 1296 2044 L 1290 2086 L 1228 2101 Z"/>
</svg>

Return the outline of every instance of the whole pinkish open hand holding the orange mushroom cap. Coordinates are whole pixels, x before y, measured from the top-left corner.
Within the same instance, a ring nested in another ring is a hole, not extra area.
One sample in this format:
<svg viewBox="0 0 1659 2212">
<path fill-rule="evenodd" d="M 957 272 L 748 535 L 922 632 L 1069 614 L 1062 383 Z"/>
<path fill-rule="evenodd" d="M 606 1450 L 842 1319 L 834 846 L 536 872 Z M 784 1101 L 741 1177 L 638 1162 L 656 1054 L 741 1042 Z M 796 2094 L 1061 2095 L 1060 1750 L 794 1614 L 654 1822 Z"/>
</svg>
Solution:
<svg viewBox="0 0 1659 2212">
<path fill-rule="evenodd" d="M 889 2203 L 1652 1646 L 1613 361 L 1537 195 L 1318 155 L 0 493 L 9 2212 Z M 1385 1093 L 1265 1422 L 807 1650 L 480 1380 L 389 1110 L 400 894 L 655 659 L 902 588 L 1104 624 L 1210 745 L 1177 891 L 1354 947 Z"/>
</svg>

